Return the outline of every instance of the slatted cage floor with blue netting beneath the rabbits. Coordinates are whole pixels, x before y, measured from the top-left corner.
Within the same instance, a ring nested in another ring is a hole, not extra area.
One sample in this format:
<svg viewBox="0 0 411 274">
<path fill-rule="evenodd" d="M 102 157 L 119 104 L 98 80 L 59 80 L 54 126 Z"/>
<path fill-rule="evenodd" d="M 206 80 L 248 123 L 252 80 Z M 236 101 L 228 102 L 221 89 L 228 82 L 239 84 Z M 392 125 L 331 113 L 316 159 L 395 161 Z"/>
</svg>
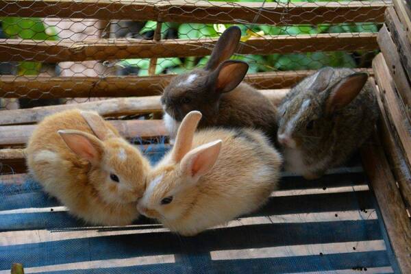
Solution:
<svg viewBox="0 0 411 274">
<path fill-rule="evenodd" d="M 87 225 L 29 180 L 0 183 L 0 196 L 0 274 L 13 262 L 26 273 L 397 273 L 358 161 L 310 182 L 283 173 L 264 208 L 195 237 L 149 219 Z"/>
</svg>

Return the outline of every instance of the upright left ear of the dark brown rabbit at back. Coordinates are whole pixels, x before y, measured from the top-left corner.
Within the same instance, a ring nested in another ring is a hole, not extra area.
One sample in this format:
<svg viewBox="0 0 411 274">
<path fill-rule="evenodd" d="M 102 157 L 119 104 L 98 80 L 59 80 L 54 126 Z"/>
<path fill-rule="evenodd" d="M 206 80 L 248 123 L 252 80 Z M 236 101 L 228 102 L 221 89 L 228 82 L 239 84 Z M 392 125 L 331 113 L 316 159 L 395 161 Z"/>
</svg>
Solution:
<svg viewBox="0 0 411 274">
<path fill-rule="evenodd" d="M 210 60 L 208 60 L 204 69 L 212 71 L 216 69 L 221 62 L 228 60 L 236 51 L 240 38 L 241 30 L 239 27 L 232 26 L 225 29 L 219 40 L 216 42 Z"/>
</svg>

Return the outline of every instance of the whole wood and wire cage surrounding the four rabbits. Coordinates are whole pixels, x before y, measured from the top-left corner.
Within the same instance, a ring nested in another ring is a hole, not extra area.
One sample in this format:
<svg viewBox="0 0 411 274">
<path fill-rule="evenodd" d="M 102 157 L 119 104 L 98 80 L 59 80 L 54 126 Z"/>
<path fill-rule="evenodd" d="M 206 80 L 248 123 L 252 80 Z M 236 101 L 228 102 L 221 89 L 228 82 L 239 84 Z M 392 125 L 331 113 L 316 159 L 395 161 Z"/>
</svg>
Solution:
<svg viewBox="0 0 411 274">
<path fill-rule="evenodd" d="M 0 273 L 411 273 L 410 15 L 403 0 L 0 0 Z M 36 123 L 74 108 L 158 162 L 162 90 L 231 25 L 232 59 L 275 105 L 323 66 L 369 73 L 373 138 L 320 179 L 282 173 L 264 208 L 194 237 L 89 225 L 29 177 Z"/>
</svg>

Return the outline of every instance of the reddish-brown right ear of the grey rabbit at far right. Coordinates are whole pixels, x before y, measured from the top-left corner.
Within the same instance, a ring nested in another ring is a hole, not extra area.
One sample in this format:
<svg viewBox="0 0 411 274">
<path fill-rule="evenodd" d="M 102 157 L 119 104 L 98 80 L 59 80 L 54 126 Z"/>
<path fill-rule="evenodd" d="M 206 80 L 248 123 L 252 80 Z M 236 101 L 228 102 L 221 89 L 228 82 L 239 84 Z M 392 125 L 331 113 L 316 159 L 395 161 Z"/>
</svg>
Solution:
<svg viewBox="0 0 411 274">
<path fill-rule="evenodd" d="M 332 87 L 329 97 L 325 101 L 325 110 L 331 113 L 351 103 L 360 93 L 367 79 L 367 73 L 353 73 L 341 79 Z"/>
</svg>

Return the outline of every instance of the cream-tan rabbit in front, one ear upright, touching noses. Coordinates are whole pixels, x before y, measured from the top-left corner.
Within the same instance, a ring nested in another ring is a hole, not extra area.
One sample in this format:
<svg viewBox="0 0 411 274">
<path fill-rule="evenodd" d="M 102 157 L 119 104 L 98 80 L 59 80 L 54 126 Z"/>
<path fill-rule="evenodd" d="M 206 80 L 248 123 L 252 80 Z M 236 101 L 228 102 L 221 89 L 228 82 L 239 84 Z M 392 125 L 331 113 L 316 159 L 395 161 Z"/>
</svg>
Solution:
<svg viewBox="0 0 411 274">
<path fill-rule="evenodd" d="M 257 210 L 277 186 L 282 156 L 258 129 L 203 129 L 182 121 L 175 146 L 153 167 L 138 211 L 193 236 Z"/>
</svg>

